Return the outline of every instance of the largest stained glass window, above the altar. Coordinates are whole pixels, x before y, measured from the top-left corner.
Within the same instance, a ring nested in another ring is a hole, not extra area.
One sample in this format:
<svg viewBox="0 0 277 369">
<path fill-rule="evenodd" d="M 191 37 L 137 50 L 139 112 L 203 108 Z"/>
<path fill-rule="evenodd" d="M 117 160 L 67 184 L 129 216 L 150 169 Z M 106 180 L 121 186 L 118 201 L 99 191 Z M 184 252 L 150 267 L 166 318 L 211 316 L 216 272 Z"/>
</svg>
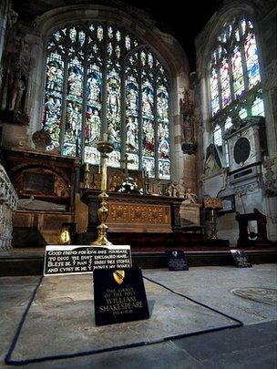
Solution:
<svg viewBox="0 0 277 369">
<path fill-rule="evenodd" d="M 108 165 L 170 179 L 169 80 L 159 58 L 123 29 L 84 23 L 56 30 L 46 45 L 44 128 L 49 149 L 99 164 L 104 132 Z"/>
</svg>

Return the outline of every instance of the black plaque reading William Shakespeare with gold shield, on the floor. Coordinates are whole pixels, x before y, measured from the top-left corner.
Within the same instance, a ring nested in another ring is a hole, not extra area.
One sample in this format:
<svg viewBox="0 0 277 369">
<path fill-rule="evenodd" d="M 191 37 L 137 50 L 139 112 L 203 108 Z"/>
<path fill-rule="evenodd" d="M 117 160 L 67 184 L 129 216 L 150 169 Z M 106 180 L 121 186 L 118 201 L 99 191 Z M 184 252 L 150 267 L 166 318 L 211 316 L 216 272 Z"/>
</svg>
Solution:
<svg viewBox="0 0 277 369">
<path fill-rule="evenodd" d="M 94 304 L 96 325 L 149 318 L 149 306 L 140 268 L 95 270 Z"/>
</svg>

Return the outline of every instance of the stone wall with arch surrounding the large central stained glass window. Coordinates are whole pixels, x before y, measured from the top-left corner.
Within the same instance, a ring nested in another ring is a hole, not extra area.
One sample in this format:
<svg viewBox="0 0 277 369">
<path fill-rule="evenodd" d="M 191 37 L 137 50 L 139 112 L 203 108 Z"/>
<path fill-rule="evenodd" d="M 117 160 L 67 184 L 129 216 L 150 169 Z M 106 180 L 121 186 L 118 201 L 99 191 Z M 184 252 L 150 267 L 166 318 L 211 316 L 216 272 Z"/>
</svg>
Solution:
<svg viewBox="0 0 277 369">
<path fill-rule="evenodd" d="M 46 65 L 46 41 L 49 34 L 57 27 L 68 22 L 82 21 L 110 21 L 124 27 L 143 42 L 151 46 L 160 56 L 160 60 L 169 72 L 170 96 L 170 134 L 171 134 L 171 178 L 175 182 L 184 179 L 187 187 L 197 190 L 195 171 L 195 155 L 184 154 L 181 150 L 182 121 L 180 115 L 180 99 L 184 88 L 189 87 L 189 64 L 187 56 L 177 40 L 161 32 L 155 21 L 144 11 L 134 7 L 124 11 L 111 2 L 111 6 L 103 5 L 65 5 L 56 6 L 53 2 L 40 7 L 35 3 L 22 1 L 25 11 L 18 12 L 18 20 L 6 32 L 6 46 L 4 50 L 4 77 L 7 70 L 20 66 L 25 78 L 26 90 L 22 103 L 24 115 L 21 122 L 11 124 L 5 119 L 0 121 L 3 126 L 3 145 L 8 147 L 34 149 L 32 135 L 42 128 L 44 81 Z M 190 90 L 191 98 L 193 92 Z M 0 93 L 1 96 L 1 93 Z M 1 97 L 0 97 L 1 98 Z M 28 122 L 28 123 L 27 123 Z"/>
</svg>

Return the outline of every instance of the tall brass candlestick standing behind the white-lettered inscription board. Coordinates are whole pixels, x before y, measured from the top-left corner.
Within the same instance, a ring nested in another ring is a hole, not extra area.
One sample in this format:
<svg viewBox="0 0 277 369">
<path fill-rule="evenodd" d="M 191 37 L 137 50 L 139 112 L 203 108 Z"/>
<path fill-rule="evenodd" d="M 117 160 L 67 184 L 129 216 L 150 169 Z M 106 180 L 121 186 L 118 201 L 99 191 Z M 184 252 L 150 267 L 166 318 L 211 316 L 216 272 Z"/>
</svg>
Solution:
<svg viewBox="0 0 277 369">
<path fill-rule="evenodd" d="M 107 190 L 107 158 L 108 154 L 112 152 L 114 146 L 112 143 L 108 142 L 108 135 L 105 133 L 102 141 L 97 142 L 97 150 L 101 153 L 102 159 L 102 179 L 101 179 L 101 193 L 98 196 L 100 201 L 100 207 L 97 210 L 98 219 L 100 220 L 100 224 L 97 226 L 98 237 L 97 241 L 91 242 L 91 245 L 94 246 L 107 246 L 112 245 L 107 238 L 107 230 L 108 226 L 105 224 L 108 219 L 108 207 L 107 200 L 108 194 Z"/>
</svg>

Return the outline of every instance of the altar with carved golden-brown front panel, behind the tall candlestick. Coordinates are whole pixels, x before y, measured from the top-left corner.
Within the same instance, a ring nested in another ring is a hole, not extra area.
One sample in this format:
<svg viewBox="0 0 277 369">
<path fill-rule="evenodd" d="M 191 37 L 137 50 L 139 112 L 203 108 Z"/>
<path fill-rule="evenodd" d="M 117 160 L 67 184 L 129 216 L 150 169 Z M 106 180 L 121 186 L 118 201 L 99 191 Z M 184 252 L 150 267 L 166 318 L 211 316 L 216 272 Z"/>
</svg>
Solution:
<svg viewBox="0 0 277 369">
<path fill-rule="evenodd" d="M 81 190 L 88 206 L 87 232 L 95 232 L 98 190 Z M 180 203 L 169 196 L 108 193 L 108 232 L 171 233 L 180 231 Z"/>
</svg>

